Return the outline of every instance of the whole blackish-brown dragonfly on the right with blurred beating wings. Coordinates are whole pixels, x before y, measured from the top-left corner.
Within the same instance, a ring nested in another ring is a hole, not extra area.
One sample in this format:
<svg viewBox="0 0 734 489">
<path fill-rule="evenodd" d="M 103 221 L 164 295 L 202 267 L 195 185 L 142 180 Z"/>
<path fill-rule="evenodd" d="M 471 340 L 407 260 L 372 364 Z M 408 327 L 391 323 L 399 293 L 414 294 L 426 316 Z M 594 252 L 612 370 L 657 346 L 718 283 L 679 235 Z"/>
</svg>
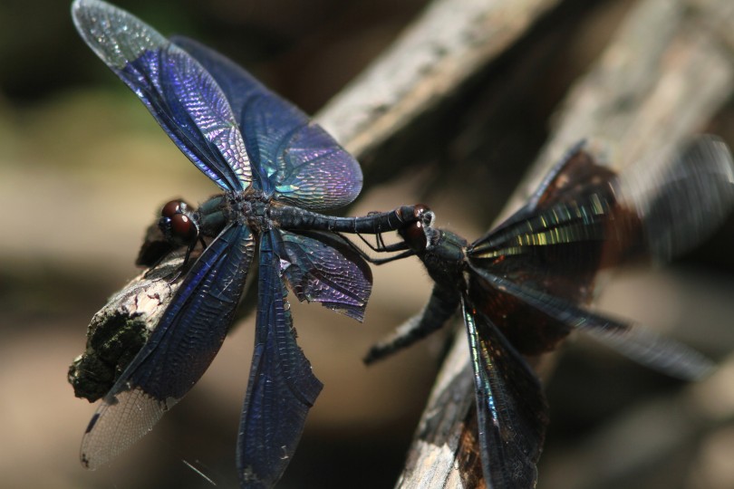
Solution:
<svg viewBox="0 0 734 489">
<path fill-rule="evenodd" d="M 377 260 L 417 255 L 435 284 L 430 302 L 372 362 L 439 329 L 458 308 L 474 369 L 479 452 L 488 487 L 535 487 L 547 418 L 539 379 L 524 356 L 587 331 L 654 369 L 697 379 L 711 367 L 699 353 L 627 321 L 591 312 L 594 276 L 691 248 L 734 205 L 734 166 L 719 139 L 701 137 L 665 165 L 620 176 L 578 146 L 525 206 L 474 243 L 433 226 L 426 210 Z"/>
</svg>

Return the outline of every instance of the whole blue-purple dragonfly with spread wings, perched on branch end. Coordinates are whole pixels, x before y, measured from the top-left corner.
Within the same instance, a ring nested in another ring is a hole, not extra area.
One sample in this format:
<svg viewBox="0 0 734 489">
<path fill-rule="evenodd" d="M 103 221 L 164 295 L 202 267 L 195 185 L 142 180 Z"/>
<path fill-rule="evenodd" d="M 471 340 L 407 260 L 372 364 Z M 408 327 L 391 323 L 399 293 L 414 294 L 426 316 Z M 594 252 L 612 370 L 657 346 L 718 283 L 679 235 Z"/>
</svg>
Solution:
<svg viewBox="0 0 734 489">
<path fill-rule="evenodd" d="M 159 226 L 188 263 L 178 292 L 140 353 L 92 417 L 82 464 L 95 468 L 133 444 L 198 381 L 236 312 L 256 250 L 256 344 L 237 440 L 241 484 L 267 487 L 285 470 L 321 391 L 295 342 L 285 283 L 299 300 L 362 320 L 369 266 L 338 232 L 394 230 L 412 207 L 365 217 L 318 214 L 353 201 L 359 164 L 294 106 L 218 53 L 166 39 L 97 0 L 76 0 L 77 30 L 128 84 L 184 154 L 218 187 L 197 210 L 164 206 Z"/>
</svg>

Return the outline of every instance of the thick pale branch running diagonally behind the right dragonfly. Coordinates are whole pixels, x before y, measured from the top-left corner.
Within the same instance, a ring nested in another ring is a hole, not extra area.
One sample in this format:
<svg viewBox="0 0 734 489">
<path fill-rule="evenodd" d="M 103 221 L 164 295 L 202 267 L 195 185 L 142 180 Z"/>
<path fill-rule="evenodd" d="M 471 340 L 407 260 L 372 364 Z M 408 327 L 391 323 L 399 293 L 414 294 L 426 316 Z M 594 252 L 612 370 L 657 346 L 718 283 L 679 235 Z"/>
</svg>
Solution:
<svg viewBox="0 0 734 489">
<path fill-rule="evenodd" d="M 732 95 L 729 0 L 645 0 L 633 9 L 601 59 L 569 92 L 546 147 L 504 212 L 526 200 L 556 158 L 589 135 L 618 144 L 629 163 L 704 128 Z M 474 487 L 478 457 L 467 440 L 475 424 L 464 331 L 425 408 L 398 487 Z M 437 420 L 439 420 L 437 422 Z M 467 464 L 467 461 L 474 465 Z M 542 477 L 542 475 L 541 475 Z"/>
</svg>

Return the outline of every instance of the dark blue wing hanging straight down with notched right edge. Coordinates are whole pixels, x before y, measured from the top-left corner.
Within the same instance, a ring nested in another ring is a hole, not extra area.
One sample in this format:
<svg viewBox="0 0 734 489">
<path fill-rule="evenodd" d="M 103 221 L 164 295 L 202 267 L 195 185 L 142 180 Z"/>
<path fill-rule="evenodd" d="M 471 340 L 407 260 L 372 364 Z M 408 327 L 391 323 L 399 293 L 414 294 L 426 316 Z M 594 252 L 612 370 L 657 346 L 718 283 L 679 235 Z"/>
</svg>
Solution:
<svg viewBox="0 0 734 489">
<path fill-rule="evenodd" d="M 237 440 L 242 487 L 272 487 L 295 452 L 323 387 L 295 343 L 274 231 L 262 235 L 255 352 Z"/>
</svg>

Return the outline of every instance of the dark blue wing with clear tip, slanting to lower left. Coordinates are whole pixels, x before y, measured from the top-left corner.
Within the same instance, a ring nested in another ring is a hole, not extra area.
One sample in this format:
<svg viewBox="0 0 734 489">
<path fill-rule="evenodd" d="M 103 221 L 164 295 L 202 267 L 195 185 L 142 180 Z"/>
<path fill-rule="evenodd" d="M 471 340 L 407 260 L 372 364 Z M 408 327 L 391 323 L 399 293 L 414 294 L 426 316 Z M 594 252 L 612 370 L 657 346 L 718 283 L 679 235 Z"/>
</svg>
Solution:
<svg viewBox="0 0 734 489">
<path fill-rule="evenodd" d="M 236 224 L 199 256 L 92 417 L 82 439 L 83 465 L 95 468 L 135 443 L 204 374 L 234 317 L 254 252 L 249 228 Z"/>
</svg>

